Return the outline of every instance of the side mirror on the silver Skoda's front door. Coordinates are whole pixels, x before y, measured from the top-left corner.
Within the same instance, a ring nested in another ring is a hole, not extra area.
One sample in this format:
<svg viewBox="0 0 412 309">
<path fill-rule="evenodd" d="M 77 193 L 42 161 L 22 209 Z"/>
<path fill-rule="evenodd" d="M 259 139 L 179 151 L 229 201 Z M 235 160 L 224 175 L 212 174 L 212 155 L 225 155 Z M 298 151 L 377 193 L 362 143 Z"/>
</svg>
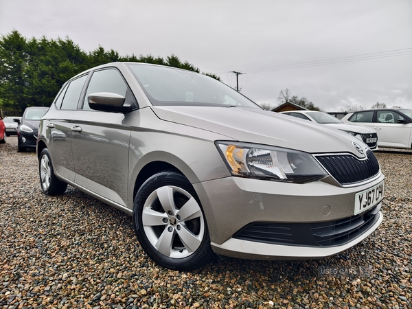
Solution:
<svg viewBox="0 0 412 309">
<path fill-rule="evenodd" d="M 123 95 L 111 92 L 98 92 L 87 95 L 87 102 L 95 111 L 106 111 L 112 113 L 127 113 L 130 111 L 128 105 L 124 105 L 126 98 Z"/>
</svg>

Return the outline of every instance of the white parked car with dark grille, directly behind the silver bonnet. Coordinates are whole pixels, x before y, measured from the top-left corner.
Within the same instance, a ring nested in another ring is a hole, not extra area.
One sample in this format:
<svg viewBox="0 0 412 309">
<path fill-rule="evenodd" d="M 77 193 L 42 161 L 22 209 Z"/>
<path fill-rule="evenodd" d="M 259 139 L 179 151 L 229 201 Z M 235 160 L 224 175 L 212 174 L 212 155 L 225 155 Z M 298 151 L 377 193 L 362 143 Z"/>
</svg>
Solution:
<svg viewBox="0 0 412 309">
<path fill-rule="evenodd" d="M 353 124 L 344 124 L 338 118 L 320 111 L 285 111 L 281 113 L 304 120 L 310 120 L 311 122 L 317 122 L 318 124 L 325 124 L 331 128 L 342 130 L 345 133 L 353 135 L 357 139 L 361 139 L 361 141 L 367 144 L 371 150 L 378 149 L 378 135 L 373 128 L 368 128 L 367 126 L 354 126 Z"/>
</svg>

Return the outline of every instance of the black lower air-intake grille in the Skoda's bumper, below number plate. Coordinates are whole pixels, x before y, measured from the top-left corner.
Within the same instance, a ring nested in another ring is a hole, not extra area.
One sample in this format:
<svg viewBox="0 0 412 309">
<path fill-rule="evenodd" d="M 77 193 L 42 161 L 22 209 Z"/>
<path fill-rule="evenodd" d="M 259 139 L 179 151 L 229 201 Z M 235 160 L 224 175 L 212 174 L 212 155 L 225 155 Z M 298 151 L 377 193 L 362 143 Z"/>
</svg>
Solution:
<svg viewBox="0 0 412 309">
<path fill-rule="evenodd" d="M 267 244 L 291 244 L 309 247 L 333 247 L 354 240 L 374 225 L 379 218 L 382 204 L 364 214 L 341 220 L 319 223 L 272 223 L 253 222 L 233 238 L 264 242 Z"/>
</svg>

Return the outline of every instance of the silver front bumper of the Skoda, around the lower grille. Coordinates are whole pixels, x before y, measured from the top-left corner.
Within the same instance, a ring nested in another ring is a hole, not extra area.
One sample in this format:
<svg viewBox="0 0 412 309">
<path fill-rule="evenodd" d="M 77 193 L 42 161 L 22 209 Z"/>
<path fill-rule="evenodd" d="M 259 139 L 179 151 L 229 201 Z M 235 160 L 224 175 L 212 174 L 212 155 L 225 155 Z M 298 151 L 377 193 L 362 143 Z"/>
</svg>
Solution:
<svg viewBox="0 0 412 309">
<path fill-rule="evenodd" d="M 236 237 L 256 222 L 303 226 L 351 218 L 355 194 L 377 185 L 384 178 L 379 174 L 373 181 L 341 187 L 328 181 L 295 184 L 227 177 L 197 183 L 194 188 L 201 199 L 211 246 L 216 253 L 236 258 L 284 260 L 321 258 L 344 251 L 374 231 L 382 221 L 382 213 L 376 211 L 374 220 L 362 230 L 351 232 L 346 242 L 325 246 L 276 244 Z M 306 231 L 302 229 L 301 233 Z"/>
</svg>

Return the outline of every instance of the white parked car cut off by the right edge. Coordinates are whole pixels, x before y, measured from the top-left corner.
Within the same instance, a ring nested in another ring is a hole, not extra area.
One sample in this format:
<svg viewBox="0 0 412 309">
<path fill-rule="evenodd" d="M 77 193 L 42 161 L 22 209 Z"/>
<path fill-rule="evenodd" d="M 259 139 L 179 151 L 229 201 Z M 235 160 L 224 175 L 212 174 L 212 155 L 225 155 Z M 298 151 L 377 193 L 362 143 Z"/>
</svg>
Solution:
<svg viewBox="0 0 412 309">
<path fill-rule="evenodd" d="M 355 111 L 345 115 L 342 121 L 376 130 L 379 147 L 412 148 L 412 109 L 382 108 Z"/>
</svg>

